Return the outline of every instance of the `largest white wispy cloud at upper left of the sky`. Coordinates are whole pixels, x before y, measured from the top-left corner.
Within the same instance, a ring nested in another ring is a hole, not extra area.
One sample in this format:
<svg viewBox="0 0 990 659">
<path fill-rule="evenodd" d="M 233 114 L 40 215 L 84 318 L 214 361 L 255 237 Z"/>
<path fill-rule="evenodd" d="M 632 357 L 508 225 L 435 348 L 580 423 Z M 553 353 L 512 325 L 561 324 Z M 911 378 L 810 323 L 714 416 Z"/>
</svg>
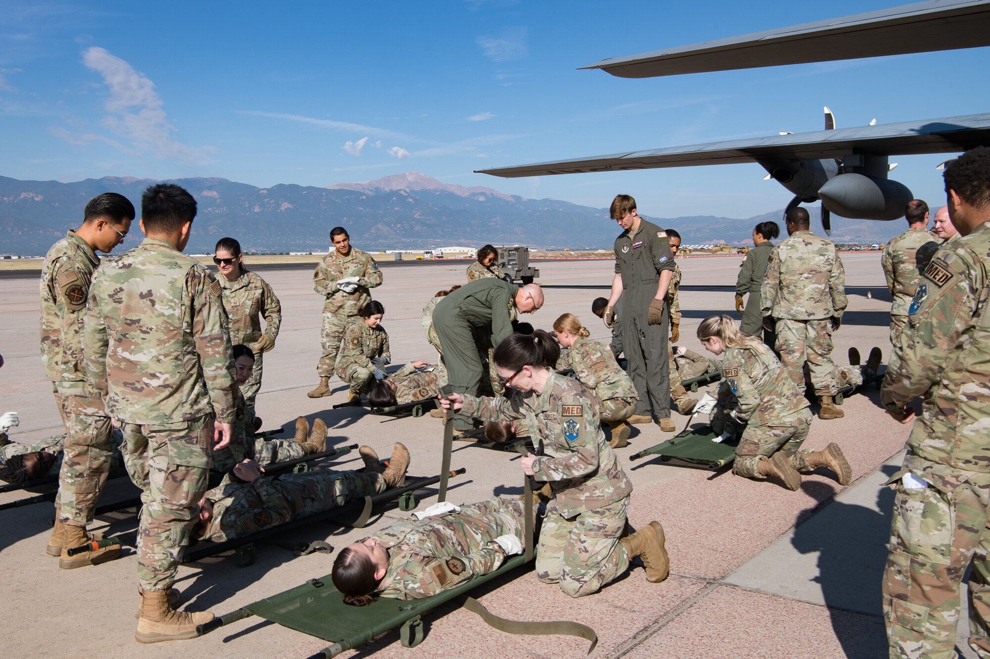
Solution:
<svg viewBox="0 0 990 659">
<path fill-rule="evenodd" d="M 104 126 L 135 146 L 153 151 L 159 158 L 175 158 L 189 164 L 210 162 L 207 149 L 172 140 L 175 127 L 165 115 L 154 83 L 143 73 L 101 47 L 83 50 L 82 63 L 103 76 L 103 82 L 110 88 L 105 105 L 109 114 L 103 119 Z"/>
</svg>

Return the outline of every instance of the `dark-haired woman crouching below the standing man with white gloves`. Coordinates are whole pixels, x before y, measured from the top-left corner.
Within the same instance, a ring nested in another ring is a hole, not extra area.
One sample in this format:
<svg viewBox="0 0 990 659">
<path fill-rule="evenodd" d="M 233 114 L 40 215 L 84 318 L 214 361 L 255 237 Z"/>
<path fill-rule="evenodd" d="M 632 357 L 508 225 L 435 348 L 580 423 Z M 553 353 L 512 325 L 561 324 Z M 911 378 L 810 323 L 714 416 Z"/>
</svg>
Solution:
<svg viewBox="0 0 990 659">
<path fill-rule="evenodd" d="M 357 318 L 347 324 L 344 342 L 337 354 L 337 377 L 350 385 L 347 401 L 356 403 L 375 380 L 385 378 L 385 365 L 392 360 L 388 333 L 381 327 L 385 308 L 372 300 L 357 310 Z"/>
</svg>

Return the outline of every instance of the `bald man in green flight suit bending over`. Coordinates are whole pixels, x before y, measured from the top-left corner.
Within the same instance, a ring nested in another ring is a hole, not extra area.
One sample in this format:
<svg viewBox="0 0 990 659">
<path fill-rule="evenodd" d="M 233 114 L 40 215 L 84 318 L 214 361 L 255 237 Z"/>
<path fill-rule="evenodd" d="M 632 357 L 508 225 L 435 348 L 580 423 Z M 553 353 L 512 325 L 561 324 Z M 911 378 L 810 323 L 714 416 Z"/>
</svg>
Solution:
<svg viewBox="0 0 990 659">
<path fill-rule="evenodd" d="M 498 345 L 512 334 L 517 314 L 532 314 L 543 305 L 544 292 L 536 284 L 516 286 L 501 279 L 475 279 L 442 299 L 434 311 L 434 328 L 453 391 L 477 396 L 484 377 L 472 329 L 489 334 L 492 345 Z M 471 419 L 454 417 L 455 430 L 472 427 Z"/>
</svg>

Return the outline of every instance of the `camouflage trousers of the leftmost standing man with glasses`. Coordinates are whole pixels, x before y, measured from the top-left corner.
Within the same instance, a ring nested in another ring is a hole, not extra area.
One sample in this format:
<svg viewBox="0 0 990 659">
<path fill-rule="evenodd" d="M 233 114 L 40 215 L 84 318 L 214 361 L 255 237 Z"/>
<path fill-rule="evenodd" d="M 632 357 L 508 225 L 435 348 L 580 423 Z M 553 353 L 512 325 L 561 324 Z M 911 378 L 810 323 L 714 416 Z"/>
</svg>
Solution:
<svg viewBox="0 0 990 659">
<path fill-rule="evenodd" d="M 93 518 L 100 491 L 110 475 L 114 426 L 103 414 L 98 398 L 70 396 L 68 407 L 72 416 L 58 472 L 55 510 L 62 523 L 85 526 Z"/>
</svg>

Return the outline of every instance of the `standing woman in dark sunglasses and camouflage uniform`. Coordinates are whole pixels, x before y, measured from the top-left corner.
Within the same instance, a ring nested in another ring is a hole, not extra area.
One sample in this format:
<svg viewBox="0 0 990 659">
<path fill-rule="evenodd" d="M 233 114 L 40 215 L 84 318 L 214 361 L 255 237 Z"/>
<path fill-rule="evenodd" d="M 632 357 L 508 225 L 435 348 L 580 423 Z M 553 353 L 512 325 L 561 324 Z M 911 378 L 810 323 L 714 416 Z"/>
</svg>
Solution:
<svg viewBox="0 0 990 659">
<path fill-rule="evenodd" d="M 241 243 L 223 237 L 214 248 L 213 262 L 221 276 L 221 297 L 230 322 L 231 344 L 244 343 L 254 353 L 254 371 L 241 387 L 247 410 L 254 415 L 254 399 L 261 389 L 263 354 L 275 346 L 282 324 L 282 305 L 271 286 L 244 266 Z M 264 331 L 261 331 L 261 319 Z"/>
</svg>

